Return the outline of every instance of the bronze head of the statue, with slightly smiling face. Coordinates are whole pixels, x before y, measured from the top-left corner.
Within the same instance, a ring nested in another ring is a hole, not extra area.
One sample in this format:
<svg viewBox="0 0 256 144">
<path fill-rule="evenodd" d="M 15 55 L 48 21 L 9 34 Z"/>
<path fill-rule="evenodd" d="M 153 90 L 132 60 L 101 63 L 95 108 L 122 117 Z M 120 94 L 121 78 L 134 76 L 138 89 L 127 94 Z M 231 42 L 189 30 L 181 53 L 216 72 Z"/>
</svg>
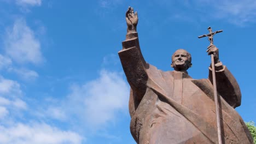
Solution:
<svg viewBox="0 0 256 144">
<path fill-rule="evenodd" d="M 192 66 L 192 58 L 188 51 L 178 49 L 172 55 L 171 67 L 176 71 L 187 71 Z"/>
</svg>

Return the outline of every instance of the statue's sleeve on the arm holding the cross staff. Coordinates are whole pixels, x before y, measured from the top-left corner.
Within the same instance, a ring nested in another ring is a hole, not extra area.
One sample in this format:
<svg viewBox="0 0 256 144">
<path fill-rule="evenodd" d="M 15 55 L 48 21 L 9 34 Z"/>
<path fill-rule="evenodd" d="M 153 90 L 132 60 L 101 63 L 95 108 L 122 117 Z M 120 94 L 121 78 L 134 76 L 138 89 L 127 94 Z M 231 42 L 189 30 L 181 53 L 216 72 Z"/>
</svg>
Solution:
<svg viewBox="0 0 256 144">
<path fill-rule="evenodd" d="M 241 105 L 241 91 L 235 77 L 230 73 L 222 62 L 215 64 L 216 71 L 216 85 L 218 93 L 226 100 L 232 107 Z M 208 79 L 212 81 L 212 69 L 209 67 Z"/>
</svg>

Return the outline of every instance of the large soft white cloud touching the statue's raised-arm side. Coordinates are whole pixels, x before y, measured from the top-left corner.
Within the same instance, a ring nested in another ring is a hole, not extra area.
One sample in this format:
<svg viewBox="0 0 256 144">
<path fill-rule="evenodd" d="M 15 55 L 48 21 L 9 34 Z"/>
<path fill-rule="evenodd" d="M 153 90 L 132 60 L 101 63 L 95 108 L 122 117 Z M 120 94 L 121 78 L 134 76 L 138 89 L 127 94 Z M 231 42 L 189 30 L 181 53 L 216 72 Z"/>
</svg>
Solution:
<svg viewBox="0 0 256 144">
<path fill-rule="evenodd" d="M 71 93 L 59 108 L 62 112 L 57 109 L 55 113 L 56 118 L 77 119 L 96 130 L 116 121 L 118 112 L 127 110 L 129 93 L 121 73 L 101 70 L 98 79 L 71 86 Z"/>
</svg>

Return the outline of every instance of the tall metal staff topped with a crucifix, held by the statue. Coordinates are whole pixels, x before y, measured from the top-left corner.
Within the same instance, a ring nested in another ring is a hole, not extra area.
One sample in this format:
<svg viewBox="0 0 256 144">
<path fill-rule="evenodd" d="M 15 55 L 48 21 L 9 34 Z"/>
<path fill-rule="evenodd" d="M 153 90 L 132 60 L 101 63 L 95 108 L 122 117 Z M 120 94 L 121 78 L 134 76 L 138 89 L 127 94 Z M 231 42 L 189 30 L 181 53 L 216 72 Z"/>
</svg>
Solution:
<svg viewBox="0 0 256 144">
<path fill-rule="evenodd" d="M 212 28 L 208 27 L 209 34 L 203 34 L 200 35 L 198 38 L 208 37 L 208 40 L 210 41 L 210 46 L 213 45 L 213 35 L 216 33 L 223 32 L 222 30 L 212 32 Z M 215 67 L 214 67 L 214 56 L 211 54 L 212 59 L 212 79 L 213 79 L 213 88 L 214 88 L 214 101 L 215 101 L 215 107 L 216 107 L 216 121 L 217 121 L 217 129 L 218 129 L 218 141 L 219 144 L 222 144 L 222 131 L 220 128 L 220 115 L 219 115 L 219 103 L 218 103 L 218 94 L 217 94 L 217 86 L 216 86 L 216 76 L 215 76 Z"/>
</svg>

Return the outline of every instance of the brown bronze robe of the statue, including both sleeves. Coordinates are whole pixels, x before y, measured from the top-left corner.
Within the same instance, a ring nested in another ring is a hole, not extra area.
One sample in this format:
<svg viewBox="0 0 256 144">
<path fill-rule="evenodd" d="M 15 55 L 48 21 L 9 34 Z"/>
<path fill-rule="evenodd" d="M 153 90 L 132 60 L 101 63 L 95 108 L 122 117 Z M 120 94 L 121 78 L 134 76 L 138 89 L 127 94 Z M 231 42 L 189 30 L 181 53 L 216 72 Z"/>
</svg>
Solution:
<svg viewBox="0 0 256 144">
<path fill-rule="evenodd" d="M 144 61 L 137 33 L 127 34 L 119 57 L 131 86 L 130 130 L 137 143 L 218 143 L 211 69 L 194 80 L 178 71 L 161 71 Z M 216 64 L 223 142 L 253 143 L 235 107 L 240 88 L 230 71 Z"/>
</svg>

